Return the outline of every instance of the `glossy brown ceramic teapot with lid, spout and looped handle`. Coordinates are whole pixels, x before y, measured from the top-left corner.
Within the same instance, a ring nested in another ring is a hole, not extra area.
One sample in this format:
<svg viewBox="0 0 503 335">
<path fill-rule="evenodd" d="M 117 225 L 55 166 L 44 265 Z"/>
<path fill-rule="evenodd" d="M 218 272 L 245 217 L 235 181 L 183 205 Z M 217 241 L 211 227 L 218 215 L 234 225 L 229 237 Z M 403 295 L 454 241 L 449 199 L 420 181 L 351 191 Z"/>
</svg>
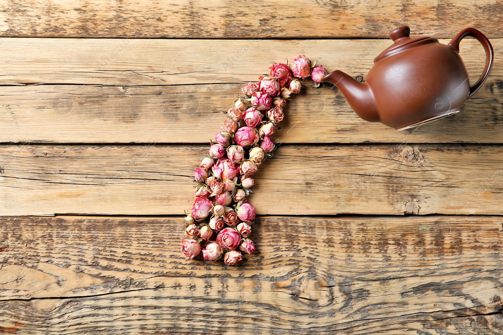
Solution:
<svg viewBox="0 0 503 335">
<path fill-rule="evenodd" d="M 363 120 L 397 130 L 457 113 L 489 75 L 494 58 L 489 40 L 474 28 L 464 29 L 447 45 L 409 33 L 405 26 L 391 32 L 394 43 L 374 58 L 365 82 L 339 70 L 322 81 L 336 85 Z M 482 44 L 486 56 L 484 71 L 473 86 L 459 56 L 459 42 L 468 36 Z"/>
</svg>

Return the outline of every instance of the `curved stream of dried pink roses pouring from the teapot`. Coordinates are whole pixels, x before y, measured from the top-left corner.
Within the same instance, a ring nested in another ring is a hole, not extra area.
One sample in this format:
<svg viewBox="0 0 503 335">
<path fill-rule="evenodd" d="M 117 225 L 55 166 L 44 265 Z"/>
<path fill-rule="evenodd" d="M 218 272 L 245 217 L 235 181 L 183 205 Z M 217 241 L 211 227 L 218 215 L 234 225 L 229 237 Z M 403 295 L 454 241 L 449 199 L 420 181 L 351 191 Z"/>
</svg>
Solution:
<svg viewBox="0 0 503 335">
<path fill-rule="evenodd" d="M 286 99 L 300 92 L 299 79 L 311 76 L 317 87 L 326 73 L 322 65 L 315 66 L 299 56 L 290 68 L 274 64 L 269 75 L 241 86 L 246 97 L 237 99 L 227 111 L 223 132 L 215 134 L 209 156 L 194 170 L 196 200 L 185 217 L 186 238 L 182 239 L 186 257 L 194 259 L 202 252 L 206 260 L 223 256 L 225 264 L 234 265 L 241 260 L 241 253 L 255 251 L 248 239 L 255 208 L 245 199 L 254 185 L 250 176 L 272 156 L 275 145 L 271 135 L 283 120 Z"/>
</svg>

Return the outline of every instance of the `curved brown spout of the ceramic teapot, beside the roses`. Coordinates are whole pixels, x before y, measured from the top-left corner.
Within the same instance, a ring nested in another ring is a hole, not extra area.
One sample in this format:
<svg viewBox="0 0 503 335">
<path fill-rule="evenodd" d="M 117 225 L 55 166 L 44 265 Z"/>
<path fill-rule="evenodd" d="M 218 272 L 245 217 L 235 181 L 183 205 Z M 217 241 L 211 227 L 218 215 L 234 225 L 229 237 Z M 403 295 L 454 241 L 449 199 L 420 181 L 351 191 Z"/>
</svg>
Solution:
<svg viewBox="0 0 503 335">
<path fill-rule="evenodd" d="M 374 93 L 365 82 L 359 82 L 343 71 L 333 71 L 324 76 L 321 81 L 336 85 L 341 90 L 355 113 L 365 121 L 378 122 L 379 113 Z"/>
</svg>

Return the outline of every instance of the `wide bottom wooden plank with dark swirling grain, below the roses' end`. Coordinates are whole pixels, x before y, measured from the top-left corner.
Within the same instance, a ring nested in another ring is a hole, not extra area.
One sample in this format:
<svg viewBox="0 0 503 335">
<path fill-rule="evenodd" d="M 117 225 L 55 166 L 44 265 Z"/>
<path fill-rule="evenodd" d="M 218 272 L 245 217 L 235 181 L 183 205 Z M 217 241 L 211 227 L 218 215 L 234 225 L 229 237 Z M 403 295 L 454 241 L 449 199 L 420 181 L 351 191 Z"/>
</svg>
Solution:
<svg viewBox="0 0 503 335">
<path fill-rule="evenodd" d="M 186 261 L 181 216 L 1 222 L 0 324 L 20 333 L 503 330 L 498 216 L 262 216 L 238 267 Z"/>
</svg>

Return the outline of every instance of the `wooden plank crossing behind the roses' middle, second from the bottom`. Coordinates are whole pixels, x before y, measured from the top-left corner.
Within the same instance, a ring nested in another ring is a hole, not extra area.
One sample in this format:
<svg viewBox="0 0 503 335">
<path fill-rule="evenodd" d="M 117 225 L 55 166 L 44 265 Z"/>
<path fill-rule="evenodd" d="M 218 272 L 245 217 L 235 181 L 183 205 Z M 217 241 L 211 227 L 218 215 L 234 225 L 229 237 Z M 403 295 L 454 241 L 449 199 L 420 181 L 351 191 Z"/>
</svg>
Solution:
<svg viewBox="0 0 503 335">
<path fill-rule="evenodd" d="M 0 213 L 180 214 L 208 145 L 3 145 Z M 503 147 L 283 145 L 250 201 L 260 214 L 501 214 Z"/>
</svg>

